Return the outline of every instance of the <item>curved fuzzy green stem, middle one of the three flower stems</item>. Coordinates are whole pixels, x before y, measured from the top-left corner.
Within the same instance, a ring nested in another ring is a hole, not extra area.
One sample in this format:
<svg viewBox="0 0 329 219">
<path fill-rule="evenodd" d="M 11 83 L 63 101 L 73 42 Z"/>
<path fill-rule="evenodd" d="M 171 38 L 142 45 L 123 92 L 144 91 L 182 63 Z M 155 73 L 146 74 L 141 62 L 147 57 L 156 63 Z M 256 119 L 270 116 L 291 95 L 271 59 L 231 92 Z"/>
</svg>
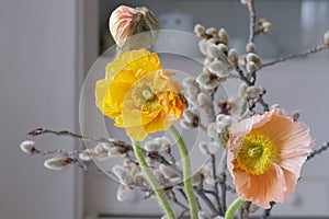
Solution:
<svg viewBox="0 0 329 219">
<path fill-rule="evenodd" d="M 196 199 L 193 193 L 192 187 L 192 175 L 191 175 L 191 163 L 189 159 L 189 151 L 186 149 L 186 146 L 184 143 L 183 138 L 179 134 L 179 131 L 175 129 L 175 127 L 172 125 L 170 126 L 169 130 L 171 131 L 171 135 L 177 140 L 177 146 L 179 148 L 180 154 L 182 157 L 183 161 L 183 180 L 184 180 L 184 187 L 185 193 L 188 196 L 189 205 L 190 205 L 190 214 L 192 219 L 197 219 L 197 204 Z"/>
</svg>

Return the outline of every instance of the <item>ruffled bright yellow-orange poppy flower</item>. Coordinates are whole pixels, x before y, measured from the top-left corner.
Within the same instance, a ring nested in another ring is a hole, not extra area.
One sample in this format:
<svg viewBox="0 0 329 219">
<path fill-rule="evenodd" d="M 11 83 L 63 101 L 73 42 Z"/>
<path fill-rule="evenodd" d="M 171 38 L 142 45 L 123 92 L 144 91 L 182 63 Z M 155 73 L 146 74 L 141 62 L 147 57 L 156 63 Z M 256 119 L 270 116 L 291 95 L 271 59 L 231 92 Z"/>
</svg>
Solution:
<svg viewBox="0 0 329 219">
<path fill-rule="evenodd" d="M 166 130 L 185 108 L 182 87 L 162 69 L 157 54 L 126 51 L 106 66 L 105 79 L 95 84 L 95 105 L 134 140 Z"/>
</svg>

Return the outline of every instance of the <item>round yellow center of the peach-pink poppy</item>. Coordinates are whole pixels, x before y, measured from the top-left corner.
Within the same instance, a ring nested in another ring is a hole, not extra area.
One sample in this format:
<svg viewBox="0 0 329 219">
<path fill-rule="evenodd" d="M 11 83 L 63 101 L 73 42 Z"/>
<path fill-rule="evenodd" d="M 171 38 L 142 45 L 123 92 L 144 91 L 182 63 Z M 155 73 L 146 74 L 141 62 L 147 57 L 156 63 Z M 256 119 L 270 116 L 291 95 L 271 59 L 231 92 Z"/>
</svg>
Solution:
<svg viewBox="0 0 329 219">
<path fill-rule="evenodd" d="M 276 153 L 269 136 L 252 131 L 241 140 L 237 161 L 241 170 L 253 175 L 261 175 L 269 170 Z"/>
</svg>

